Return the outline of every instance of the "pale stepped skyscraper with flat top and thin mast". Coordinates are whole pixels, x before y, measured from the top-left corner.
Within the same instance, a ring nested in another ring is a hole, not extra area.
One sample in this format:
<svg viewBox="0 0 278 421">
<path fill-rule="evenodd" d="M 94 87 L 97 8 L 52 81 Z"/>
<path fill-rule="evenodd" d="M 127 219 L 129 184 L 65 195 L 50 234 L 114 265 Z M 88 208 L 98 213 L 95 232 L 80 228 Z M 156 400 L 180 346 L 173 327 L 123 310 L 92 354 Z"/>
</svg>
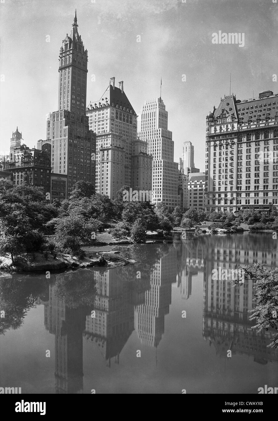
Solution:
<svg viewBox="0 0 278 421">
<path fill-rule="evenodd" d="M 178 163 L 174 162 L 174 142 L 168 130 L 168 112 L 161 98 L 145 101 L 141 114 L 139 139 L 148 142 L 153 156 L 152 203 L 163 202 L 168 209 L 180 205 Z"/>
</svg>

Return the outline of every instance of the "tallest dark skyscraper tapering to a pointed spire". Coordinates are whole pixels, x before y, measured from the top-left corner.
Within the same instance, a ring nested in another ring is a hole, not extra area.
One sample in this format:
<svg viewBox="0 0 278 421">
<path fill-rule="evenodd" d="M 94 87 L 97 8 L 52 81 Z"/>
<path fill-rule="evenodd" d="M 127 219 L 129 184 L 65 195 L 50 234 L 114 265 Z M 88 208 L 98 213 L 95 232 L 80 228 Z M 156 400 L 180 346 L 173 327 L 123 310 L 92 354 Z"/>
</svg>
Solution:
<svg viewBox="0 0 278 421">
<path fill-rule="evenodd" d="M 47 149 L 52 172 L 67 175 L 67 197 L 76 181 L 95 183 L 95 133 L 86 116 L 87 61 L 78 24 L 73 19 L 59 55 L 58 111 L 47 118 L 47 139 L 38 147 Z"/>
</svg>

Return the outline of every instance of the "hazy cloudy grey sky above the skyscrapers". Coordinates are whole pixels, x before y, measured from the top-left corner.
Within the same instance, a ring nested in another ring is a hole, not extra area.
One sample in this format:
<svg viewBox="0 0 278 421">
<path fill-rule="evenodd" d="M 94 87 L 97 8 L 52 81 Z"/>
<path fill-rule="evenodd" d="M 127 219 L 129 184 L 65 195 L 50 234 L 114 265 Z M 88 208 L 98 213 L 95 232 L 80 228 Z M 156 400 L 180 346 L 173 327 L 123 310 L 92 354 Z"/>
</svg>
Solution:
<svg viewBox="0 0 278 421">
<path fill-rule="evenodd" d="M 230 73 L 236 99 L 278 92 L 275 1 L 0 0 L 0 154 L 16 126 L 29 147 L 46 139 L 46 115 L 58 109 L 60 47 L 76 8 L 88 50 L 87 105 L 115 76 L 140 116 L 144 101 L 160 96 L 162 78 L 174 159 L 191 141 L 204 171 L 206 115 L 229 95 Z M 218 31 L 244 34 L 244 46 L 212 43 Z"/>
</svg>

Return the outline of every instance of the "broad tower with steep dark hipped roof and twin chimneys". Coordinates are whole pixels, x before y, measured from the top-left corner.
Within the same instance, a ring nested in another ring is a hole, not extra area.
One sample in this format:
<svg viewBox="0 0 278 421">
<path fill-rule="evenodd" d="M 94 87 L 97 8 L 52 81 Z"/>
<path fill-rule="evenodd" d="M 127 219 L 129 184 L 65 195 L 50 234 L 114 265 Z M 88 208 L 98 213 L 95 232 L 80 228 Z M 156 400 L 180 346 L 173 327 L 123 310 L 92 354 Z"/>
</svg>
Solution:
<svg viewBox="0 0 278 421">
<path fill-rule="evenodd" d="M 89 127 L 97 133 L 96 192 L 117 197 L 124 185 L 151 190 L 152 157 L 146 141 L 137 139 L 137 115 L 123 81 L 110 78 L 103 98 L 87 108 Z"/>
</svg>

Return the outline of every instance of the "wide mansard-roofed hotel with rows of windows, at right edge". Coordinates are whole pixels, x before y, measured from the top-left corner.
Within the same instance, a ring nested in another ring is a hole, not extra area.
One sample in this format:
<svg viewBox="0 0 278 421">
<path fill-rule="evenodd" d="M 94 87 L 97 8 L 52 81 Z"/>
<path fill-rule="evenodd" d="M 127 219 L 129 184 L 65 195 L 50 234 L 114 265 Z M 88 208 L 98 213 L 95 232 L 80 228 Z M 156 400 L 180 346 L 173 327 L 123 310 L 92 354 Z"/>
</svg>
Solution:
<svg viewBox="0 0 278 421">
<path fill-rule="evenodd" d="M 278 94 L 224 96 L 207 115 L 207 211 L 278 206 Z"/>
</svg>

